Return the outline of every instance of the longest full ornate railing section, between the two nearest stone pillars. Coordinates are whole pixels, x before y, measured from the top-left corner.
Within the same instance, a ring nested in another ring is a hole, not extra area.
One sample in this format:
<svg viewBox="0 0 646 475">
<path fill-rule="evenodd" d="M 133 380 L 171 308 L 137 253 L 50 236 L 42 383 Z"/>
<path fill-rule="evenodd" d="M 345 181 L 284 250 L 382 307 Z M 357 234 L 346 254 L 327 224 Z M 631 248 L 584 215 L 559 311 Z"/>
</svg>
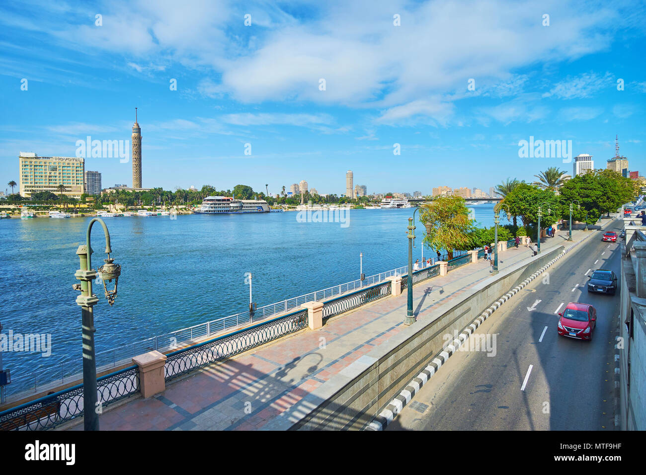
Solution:
<svg viewBox="0 0 646 475">
<path fill-rule="evenodd" d="M 195 368 L 229 358 L 306 327 L 307 310 L 300 310 L 213 341 L 173 352 L 167 355 L 164 366 L 165 379 L 169 381 Z"/>
</svg>

